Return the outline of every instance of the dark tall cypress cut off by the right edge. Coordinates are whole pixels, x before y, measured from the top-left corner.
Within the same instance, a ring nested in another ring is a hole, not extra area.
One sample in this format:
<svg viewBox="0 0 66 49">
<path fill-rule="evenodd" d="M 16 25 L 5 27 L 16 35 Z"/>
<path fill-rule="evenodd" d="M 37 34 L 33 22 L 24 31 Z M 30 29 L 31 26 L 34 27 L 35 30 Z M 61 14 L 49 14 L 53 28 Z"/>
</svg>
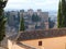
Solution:
<svg viewBox="0 0 66 49">
<path fill-rule="evenodd" d="M 62 27 L 66 27 L 66 1 L 62 0 Z"/>
</svg>

